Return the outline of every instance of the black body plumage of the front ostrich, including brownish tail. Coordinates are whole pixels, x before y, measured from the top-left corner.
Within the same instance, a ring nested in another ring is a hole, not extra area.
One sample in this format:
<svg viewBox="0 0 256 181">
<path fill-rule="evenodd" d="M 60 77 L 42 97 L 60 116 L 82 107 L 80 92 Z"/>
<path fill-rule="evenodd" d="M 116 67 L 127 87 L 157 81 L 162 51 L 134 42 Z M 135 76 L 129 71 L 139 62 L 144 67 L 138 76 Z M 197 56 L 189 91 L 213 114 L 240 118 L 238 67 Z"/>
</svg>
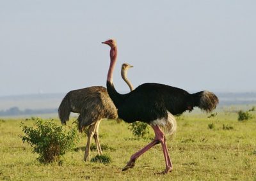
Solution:
<svg viewBox="0 0 256 181">
<path fill-rule="evenodd" d="M 200 107 L 202 110 L 210 112 L 218 104 L 218 98 L 212 92 L 205 91 L 211 95 L 211 99 L 205 99 L 204 91 L 189 94 L 183 89 L 160 83 L 143 83 L 128 94 L 119 94 L 110 82 L 107 82 L 107 89 L 118 109 L 118 117 L 125 122 L 140 120 L 150 124 L 152 120 L 167 117 L 167 111 L 177 115 L 191 111 L 195 106 L 200 107 L 203 98 L 208 107 Z"/>
</svg>

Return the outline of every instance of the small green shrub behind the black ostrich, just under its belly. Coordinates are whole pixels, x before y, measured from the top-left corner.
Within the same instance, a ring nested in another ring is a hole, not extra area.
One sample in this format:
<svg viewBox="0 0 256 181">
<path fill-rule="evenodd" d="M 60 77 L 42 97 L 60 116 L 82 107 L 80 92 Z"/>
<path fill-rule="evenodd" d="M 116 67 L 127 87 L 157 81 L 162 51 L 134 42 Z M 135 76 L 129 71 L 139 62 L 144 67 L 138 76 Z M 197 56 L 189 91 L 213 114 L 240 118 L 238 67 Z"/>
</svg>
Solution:
<svg viewBox="0 0 256 181">
<path fill-rule="evenodd" d="M 138 139 L 143 138 L 146 134 L 149 133 L 148 124 L 145 122 L 132 122 L 132 124 L 129 125 L 129 129 Z"/>
</svg>

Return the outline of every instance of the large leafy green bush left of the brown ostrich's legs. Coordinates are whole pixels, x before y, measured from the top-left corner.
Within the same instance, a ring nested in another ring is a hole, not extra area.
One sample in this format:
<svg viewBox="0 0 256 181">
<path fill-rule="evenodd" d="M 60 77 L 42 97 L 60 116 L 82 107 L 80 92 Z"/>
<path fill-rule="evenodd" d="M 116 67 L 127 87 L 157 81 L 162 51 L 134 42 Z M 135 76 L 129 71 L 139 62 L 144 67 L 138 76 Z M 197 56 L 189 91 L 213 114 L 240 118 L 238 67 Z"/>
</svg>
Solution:
<svg viewBox="0 0 256 181">
<path fill-rule="evenodd" d="M 27 142 L 33 147 L 33 153 L 39 154 L 40 163 L 51 163 L 58 161 L 68 150 L 72 150 L 79 137 L 77 129 L 70 131 L 63 130 L 63 126 L 58 126 L 53 120 L 43 123 L 42 119 L 36 119 L 35 128 L 20 123 L 24 136 L 20 136 L 23 143 Z"/>
</svg>

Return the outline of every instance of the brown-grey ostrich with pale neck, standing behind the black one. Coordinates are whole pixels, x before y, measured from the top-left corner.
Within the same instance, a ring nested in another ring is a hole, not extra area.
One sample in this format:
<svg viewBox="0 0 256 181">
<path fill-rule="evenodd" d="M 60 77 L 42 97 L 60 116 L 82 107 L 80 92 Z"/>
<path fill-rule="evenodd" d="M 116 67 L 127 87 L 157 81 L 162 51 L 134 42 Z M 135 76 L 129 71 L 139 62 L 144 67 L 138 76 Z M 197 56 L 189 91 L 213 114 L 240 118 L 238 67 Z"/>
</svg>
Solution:
<svg viewBox="0 0 256 181">
<path fill-rule="evenodd" d="M 130 64 L 122 64 L 121 75 L 124 81 L 133 90 L 131 82 L 127 79 L 127 70 L 132 68 Z M 82 132 L 84 127 L 88 127 L 88 140 L 84 152 L 84 161 L 90 159 L 90 145 L 92 137 L 95 140 L 98 154 L 102 154 L 99 143 L 99 126 L 102 119 L 116 119 L 117 111 L 113 101 L 108 96 L 107 89 L 102 86 L 86 87 L 70 91 L 61 101 L 58 109 L 62 124 L 66 124 L 70 112 L 79 113 L 78 127 Z"/>
</svg>

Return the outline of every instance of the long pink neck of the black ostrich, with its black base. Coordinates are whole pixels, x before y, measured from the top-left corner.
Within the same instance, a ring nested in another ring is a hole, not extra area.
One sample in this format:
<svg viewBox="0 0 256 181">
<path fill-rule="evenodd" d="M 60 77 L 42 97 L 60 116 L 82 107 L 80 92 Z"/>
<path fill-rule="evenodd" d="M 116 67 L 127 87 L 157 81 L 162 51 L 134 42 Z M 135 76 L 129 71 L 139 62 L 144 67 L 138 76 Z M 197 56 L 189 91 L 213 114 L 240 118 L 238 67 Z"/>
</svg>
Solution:
<svg viewBox="0 0 256 181">
<path fill-rule="evenodd" d="M 112 99 L 116 108 L 118 108 L 118 106 L 122 102 L 122 94 L 119 94 L 118 92 L 116 92 L 115 86 L 113 84 L 113 71 L 115 69 L 116 58 L 117 58 L 117 48 L 111 47 L 110 65 L 108 69 L 108 78 L 107 78 L 107 90 L 108 90 L 109 97 Z"/>
</svg>

